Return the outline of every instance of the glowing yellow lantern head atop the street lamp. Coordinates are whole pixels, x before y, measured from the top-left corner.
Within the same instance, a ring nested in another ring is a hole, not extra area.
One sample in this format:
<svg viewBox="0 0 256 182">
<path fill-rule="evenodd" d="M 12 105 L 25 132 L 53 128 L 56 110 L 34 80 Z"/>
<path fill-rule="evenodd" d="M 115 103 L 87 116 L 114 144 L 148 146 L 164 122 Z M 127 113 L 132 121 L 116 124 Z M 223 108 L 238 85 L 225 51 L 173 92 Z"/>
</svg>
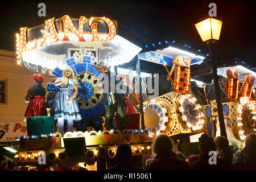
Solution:
<svg viewBox="0 0 256 182">
<path fill-rule="evenodd" d="M 214 43 L 220 39 L 222 21 L 208 18 L 196 23 L 195 26 L 203 42 L 210 43 L 210 40 L 214 40 L 212 41 Z"/>
</svg>

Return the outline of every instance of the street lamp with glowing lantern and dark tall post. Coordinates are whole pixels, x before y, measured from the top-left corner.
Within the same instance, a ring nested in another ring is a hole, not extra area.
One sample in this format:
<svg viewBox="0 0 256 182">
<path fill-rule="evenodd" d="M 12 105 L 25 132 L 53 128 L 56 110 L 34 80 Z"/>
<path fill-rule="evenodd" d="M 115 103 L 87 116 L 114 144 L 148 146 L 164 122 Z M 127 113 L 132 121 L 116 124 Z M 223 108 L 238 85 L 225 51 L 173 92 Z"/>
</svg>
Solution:
<svg viewBox="0 0 256 182">
<path fill-rule="evenodd" d="M 222 111 L 220 86 L 218 85 L 216 60 L 212 59 L 212 52 L 210 50 L 210 44 L 217 43 L 220 39 L 222 21 L 214 18 L 208 18 L 199 23 L 196 23 L 195 26 L 197 31 L 199 32 L 201 39 L 208 45 L 209 48 L 209 57 L 210 60 L 212 60 L 212 72 L 218 110 L 218 121 L 220 123 L 220 133 L 221 136 L 227 138 L 224 115 Z"/>
</svg>

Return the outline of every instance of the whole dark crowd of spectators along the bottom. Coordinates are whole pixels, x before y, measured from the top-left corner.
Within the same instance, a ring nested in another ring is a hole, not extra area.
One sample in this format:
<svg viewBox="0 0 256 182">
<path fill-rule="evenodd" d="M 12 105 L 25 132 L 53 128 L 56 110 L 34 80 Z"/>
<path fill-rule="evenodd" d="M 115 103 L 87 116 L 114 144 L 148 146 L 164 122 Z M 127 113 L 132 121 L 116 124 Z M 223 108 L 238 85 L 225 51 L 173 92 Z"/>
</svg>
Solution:
<svg viewBox="0 0 256 182">
<path fill-rule="evenodd" d="M 187 147 L 187 145 L 184 145 Z M 183 148 L 184 148 L 183 146 Z M 251 133 L 245 139 L 245 148 L 234 154 L 233 146 L 229 145 L 229 140 L 225 137 L 216 137 L 213 139 L 207 134 L 202 134 L 199 138 L 199 155 L 184 155 L 177 151 L 177 148 L 170 137 L 166 134 L 157 135 L 152 142 L 152 154 L 137 158 L 137 164 L 133 160 L 133 152 L 130 144 L 119 144 L 111 166 L 97 167 L 100 171 L 256 171 L 256 135 Z M 138 162 L 141 160 L 141 163 Z M 102 164 L 106 161 L 102 160 Z M 100 164 L 100 160 L 99 160 Z M 106 163 L 105 163 L 106 164 Z M 141 164 L 141 165 L 138 165 Z M 44 168 L 43 170 L 50 170 Z M 15 160 L 7 161 L 3 156 L 0 157 L 1 171 L 26 170 L 18 168 Z M 32 168 L 31 171 L 42 170 Z M 56 167 L 56 171 L 88 171 L 86 168 L 74 166 Z"/>
</svg>

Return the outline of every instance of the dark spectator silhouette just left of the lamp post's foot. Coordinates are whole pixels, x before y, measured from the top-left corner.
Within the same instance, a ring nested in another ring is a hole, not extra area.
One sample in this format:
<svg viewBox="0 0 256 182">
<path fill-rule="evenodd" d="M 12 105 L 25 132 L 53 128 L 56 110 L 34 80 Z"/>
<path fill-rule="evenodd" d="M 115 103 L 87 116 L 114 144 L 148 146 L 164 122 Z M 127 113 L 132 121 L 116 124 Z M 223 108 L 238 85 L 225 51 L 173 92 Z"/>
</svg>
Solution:
<svg viewBox="0 0 256 182">
<path fill-rule="evenodd" d="M 219 170 L 232 170 L 233 166 L 227 159 L 217 158 L 216 163 L 210 164 L 209 161 L 212 161 L 209 158 L 214 157 L 209 155 L 210 151 L 216 150 L 216 144 L 212 137 L 209 137 L 207 134 L 202 134 L 199 138 L 199 159 L 190 163 L 190 166 L 193 170 L 197 171 L 219 171 Z M 214 154 L 216 155 L 216 154 Z"/>
</svg>

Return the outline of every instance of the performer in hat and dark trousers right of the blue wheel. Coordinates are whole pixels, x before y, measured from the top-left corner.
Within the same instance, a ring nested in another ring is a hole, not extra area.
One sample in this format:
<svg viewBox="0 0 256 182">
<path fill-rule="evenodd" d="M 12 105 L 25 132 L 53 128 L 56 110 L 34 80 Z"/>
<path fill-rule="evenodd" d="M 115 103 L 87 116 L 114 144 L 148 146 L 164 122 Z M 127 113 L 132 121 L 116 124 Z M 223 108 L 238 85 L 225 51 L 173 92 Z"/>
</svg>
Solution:
<svg viewBox="0 0 256 182">
<path fill-rule="evenodd" d="M 122 97 L 122 93 L 117 93 L 115 90 L 115 85 L 117 84 L 118 81 L 115 80 L 114 73 L 110 72 L 110 67 L 106 65 L 103 61 L 100 61 L 100 63 L 97 64 L 97 71 L 100 73 L 105 73 L 106 75 L 104 76 L 104 92 L 105 92 L 105 127 L 106 130 L 113 129 L 113 118 L 115 111 L 119 115 L 121 119 L 121 129 L 125 129 L 127 125 L 127 119 L 125 116 L 125 109 L 124 109 L 124 101 Z M 114 79 L 111 80 L 111 78 Z M 107 80 L 105 80 L 107 79 Z M 114 82 L 114 84 L 111 84 L 111 81 Z M 114 86 L 114 88 L 112 88 Z M 113 93 L 113 92 L 114 93 Z"/>
</svg>

